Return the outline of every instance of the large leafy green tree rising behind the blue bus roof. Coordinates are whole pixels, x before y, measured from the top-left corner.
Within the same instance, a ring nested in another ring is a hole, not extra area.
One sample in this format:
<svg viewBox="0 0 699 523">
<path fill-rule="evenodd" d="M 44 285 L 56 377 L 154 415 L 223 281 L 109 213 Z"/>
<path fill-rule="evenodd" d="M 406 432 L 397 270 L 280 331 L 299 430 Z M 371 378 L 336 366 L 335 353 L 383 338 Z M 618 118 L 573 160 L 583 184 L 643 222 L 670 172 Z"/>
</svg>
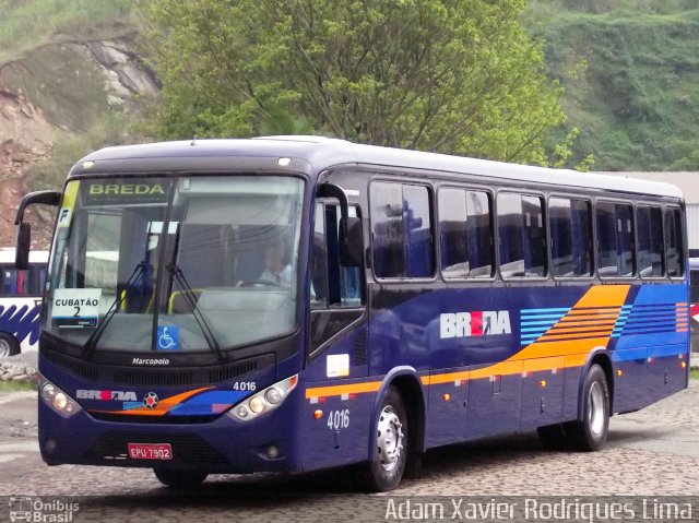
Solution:
<svg viewBox="0 0 699 523">
<path fill-rule="evenodd" d="M 524 7 L 152 0 L 143 12 L 163 81 L 152 130 L 169 139 L 291 129 L 547 164 L 561 90 L 520 25 Z"/>
</svg>

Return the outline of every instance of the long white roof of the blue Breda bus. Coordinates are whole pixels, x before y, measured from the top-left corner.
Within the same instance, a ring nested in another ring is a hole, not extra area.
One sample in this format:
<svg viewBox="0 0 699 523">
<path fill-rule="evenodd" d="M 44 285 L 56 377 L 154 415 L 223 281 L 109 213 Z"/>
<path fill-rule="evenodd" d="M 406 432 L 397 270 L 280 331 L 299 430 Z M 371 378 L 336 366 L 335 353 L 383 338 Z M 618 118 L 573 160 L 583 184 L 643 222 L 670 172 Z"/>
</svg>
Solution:
<svg viewBox="0 0 699 523">
<path fill-rule="evenodd" d="M 293 158 L 305 164 L 305 171 L 317 176 L 337 165 L 367 165 L 391 168 L 423 168 L 455 175 L 473 175 L 502 180 L 536 182 L 559 187 L 580 187 L 608 191 L 683 198 L 675 186 L 633 178 L 578 173 L 487 159 L 451 156 L 446 154 L 406 151 L 375 145 L 362 145 L 345 140 L 321 136 L 261 136 L 256 139 L 191 140 L 159 142 L 141 145 L 106 147 L 85 156 L 73 166 L 71 176 L 86 174 L 85 162 L 94 162 L 92 171 L 109 164 L 109 171 L 118 171 L 121 165 L 129 170 L 139 165 L 139 171 L 187 171 L 194 166 L 206 169 L 208 164 L 217 168 L 237 167 L 234 158 Z M 298 163 L 297 163 L 298 164 Z M 294 166 L 292 166 L 294 167 Z M 289 167 L 289 168 L 292 168 Z M 298 165 L 295 166 L 298 168 Z"/>
</svg>

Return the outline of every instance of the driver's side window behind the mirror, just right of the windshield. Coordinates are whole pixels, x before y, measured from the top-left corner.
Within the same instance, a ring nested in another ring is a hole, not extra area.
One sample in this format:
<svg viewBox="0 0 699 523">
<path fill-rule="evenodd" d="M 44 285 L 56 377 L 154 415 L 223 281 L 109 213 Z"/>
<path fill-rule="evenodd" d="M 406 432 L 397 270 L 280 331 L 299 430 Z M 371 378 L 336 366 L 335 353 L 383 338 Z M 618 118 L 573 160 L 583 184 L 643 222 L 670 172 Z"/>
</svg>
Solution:
<svg viewBox="0 0 699 523">
<path fill-rule="evenodd" d="M 348 207 L 357 217 L 357 207 Z M 311 309 L 358 307 L 362 305 L 360 268 L 340 264 L 340 209 L 332 203 L 316 204 L 316 225 L 310 260 Z"/>
</svg>

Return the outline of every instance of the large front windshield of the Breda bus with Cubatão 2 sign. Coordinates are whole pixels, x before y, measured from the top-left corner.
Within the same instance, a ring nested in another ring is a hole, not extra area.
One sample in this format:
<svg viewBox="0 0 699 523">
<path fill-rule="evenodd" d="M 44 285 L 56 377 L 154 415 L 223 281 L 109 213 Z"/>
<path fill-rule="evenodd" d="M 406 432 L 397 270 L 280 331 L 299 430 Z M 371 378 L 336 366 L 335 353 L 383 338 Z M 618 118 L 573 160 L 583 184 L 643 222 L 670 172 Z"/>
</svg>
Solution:
<svg viewBox="0 0 699 523">
<path fill-rule="evenodd" d="M 45 330 L 85 355 L 221 354 L 291 332 L 303 189 L 276 176 L 69 182 Z"/>
</svg>

